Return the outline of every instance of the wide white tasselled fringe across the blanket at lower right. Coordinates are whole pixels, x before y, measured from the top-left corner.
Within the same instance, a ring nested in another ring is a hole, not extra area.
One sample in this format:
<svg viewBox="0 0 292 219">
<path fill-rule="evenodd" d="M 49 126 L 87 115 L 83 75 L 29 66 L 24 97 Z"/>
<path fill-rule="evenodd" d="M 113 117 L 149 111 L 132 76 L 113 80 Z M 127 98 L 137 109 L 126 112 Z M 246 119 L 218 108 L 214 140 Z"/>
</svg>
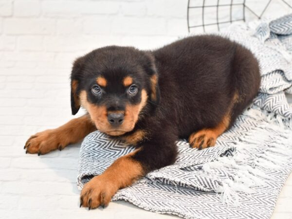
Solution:
<svg viewBox="0 0 292 219">
<path fill-rule="evenodd" d="M 264 125 L 256 127 L 252 132 L 240 138 L 234 156 L 223 156 L 217 160 L 203 164 L 202 170 L 212 174 L 212 169 L 222 167 L 234 171 L 229 179 L 218 182 L 215 192 L 226 204 L 238 206 L 238 192 L 253 193 L 253 187 L 264 184 L 268 179 L 266 171 L 279 169 L 292 158 L 292 130 L 290 123 L 274 113 L 258 110 L 258 107 L 246 110 L 245 115 L 265 121 Z M 284 139 L 284 141 L 283 141 Z M 259 144 L 266 146 L 266 151 L 257 150 Z M 254 150 L 254 157 L 247 156 L 247 151 Z M 256 168 L 256 166 L 260 168 Z"/>
</svg>

